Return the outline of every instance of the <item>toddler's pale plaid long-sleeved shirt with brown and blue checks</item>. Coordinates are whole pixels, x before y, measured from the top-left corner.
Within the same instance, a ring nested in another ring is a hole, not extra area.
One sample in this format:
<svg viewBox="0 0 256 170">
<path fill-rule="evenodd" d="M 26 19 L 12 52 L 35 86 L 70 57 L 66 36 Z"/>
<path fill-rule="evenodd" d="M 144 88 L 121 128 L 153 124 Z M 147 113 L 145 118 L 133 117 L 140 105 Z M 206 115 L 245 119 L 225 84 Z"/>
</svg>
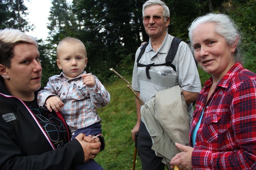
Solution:
<svg viewBox="0 0 256 170">
<path fill-rule="evenodd" d="M 85 73 L 84 71 L 82 74 Z M 47 109 L 45 107 L 47 97 L 56 95 L 61 99 L 64 107 L 60 112 L 71 132 L 101 122 L 97 108 L 104 107 L 110 102 L 109 92 L 96 76 L 94 76 L 95 87 L 88 88 L 83 84 L 81 75 L 73 79 L 68 79 L 63 72 L 52 76 L 44 90 L 38 93 L 38 104 L 44 109 Z"/>
</svg>

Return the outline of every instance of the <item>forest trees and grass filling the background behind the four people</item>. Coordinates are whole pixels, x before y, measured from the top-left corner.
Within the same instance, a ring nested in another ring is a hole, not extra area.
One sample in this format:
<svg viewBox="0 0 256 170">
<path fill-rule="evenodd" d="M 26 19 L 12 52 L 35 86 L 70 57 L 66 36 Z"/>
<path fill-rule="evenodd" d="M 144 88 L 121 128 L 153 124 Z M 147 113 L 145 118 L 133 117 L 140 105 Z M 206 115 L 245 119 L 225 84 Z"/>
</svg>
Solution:
<svg viewBox="0 0 256 170">
<path fill-rule="evenodd" d="M 67 36 L 79 38 L 86 47 L 86 71 L 96 75 L 111 94 L 108 106 L 99 109 L 105 150 L 95 159 L 108 169 L 132 169 L 134 142 L 131 129 L 136 123 L 134 95 L 109 68 L 131 82 L 135 53 L 141 42 L 148 41 L 142 5 L 146 0 L 52 0 L 49 36 L 38 40 L 43 67 L 42 87 L 48 78 L 61 71 L 56 64 L 56 47 Z M 170 9 L 168 32 L 189 43 L 187 27 L 198 16 L 210 12 L 229 15 L 242 33 L 243 65 L 256 73 L 256 0 L 163 0 Z M 24 0 L 0 0 L 0 29 L 31 31 L 34 26 Z M 203 86 L 210 75 L 198 68 Z M 136 169 L 141 169 L 139 156 Z"/>
</svg>

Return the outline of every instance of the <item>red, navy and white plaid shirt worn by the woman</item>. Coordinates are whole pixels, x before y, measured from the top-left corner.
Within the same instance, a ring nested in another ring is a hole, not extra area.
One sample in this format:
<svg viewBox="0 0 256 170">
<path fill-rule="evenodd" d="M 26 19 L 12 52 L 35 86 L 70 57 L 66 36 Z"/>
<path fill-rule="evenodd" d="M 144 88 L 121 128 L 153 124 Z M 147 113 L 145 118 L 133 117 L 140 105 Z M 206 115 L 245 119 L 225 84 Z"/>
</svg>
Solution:
<svg viewBox="0 0 256 170">
<path fill-rule="evenodd" d="M 256 74 L 236 63 L 207 103 L 212 78 L 204 85 L 189 135 L 204 108 L 192 152 L 193 169 L 256 169 Z"/>
</svg>

